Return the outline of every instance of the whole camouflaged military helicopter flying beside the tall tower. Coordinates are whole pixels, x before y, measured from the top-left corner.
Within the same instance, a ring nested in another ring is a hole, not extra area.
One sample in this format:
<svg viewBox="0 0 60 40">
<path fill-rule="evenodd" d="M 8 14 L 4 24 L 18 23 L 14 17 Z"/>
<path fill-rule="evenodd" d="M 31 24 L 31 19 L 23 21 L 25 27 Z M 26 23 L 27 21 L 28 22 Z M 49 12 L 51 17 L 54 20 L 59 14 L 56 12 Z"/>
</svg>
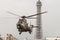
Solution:
<svg viewBox="0 0 60 40">
<path fill-rule="evenodd" d="M 47 11 L 41 12 L 41 13 L 38 13 L 38 14 L 34 14 L 34 15 L 30 15 L 30 16 L 21 16 L 21 18 L 19 19 L 18 23 L 16 24 L 17 25 L 17 29 L 19 31 L 19 34 L 21 34 L 22 32 L 27 32 L 27 31 L 31 34 L 32 28 L 35 27 L 35 26 L 34 25 L 28 26 L 27 19 L 31 19 L 31 17 L 33 17 L 33 16 L 44 14 L 46 12 Z M 13 14 L 15 16 L 19 16 L 17 14 L 11 13 L 9 11 L 8 11 L 8 13 Z"/>
</svg>

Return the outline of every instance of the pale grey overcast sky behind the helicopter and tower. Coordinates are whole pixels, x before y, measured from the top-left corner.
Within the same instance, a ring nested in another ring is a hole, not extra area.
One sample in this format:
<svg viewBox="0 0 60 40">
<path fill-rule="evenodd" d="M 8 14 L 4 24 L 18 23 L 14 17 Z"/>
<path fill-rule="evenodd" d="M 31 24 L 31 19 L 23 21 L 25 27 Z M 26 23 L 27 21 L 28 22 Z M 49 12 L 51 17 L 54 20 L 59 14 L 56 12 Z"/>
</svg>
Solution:
<svg viewBox="0 0 60 40">
<path fill-rule="evenodd" d="M 0 0 L 0 34 L 11 33 L 21 39 L 34 36 L 34 32 L 31 35 L 28 32 L 19 35 L 16 29 L 19 18 L 7 13 L 7 11 L 20 16 L 36 14 L 36 2 L 37 0 Z M 48 13 L 42 15 L 43 36 L 60 36 L 60 0 L 41 0 L 41 2 L 42 12 L 48 11 Z M 32 24 L 36 22 L 29 20 L 28 23 L 30 21 Z"/>
</svg>

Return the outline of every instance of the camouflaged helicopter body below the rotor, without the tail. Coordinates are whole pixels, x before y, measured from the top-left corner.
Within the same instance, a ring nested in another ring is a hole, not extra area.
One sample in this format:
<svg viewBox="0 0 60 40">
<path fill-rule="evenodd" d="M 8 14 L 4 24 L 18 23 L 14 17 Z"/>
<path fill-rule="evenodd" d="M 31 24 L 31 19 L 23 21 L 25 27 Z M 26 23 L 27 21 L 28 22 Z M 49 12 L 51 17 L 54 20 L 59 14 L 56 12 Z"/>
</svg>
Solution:
<svg viewBox="0 0 60 40">
<path fill-rule="evenodd" d="M 21 34 L 22 32 L 29 32 L 31 34 L 32 32 L 32 27 L 28 27 L 27 21 L 23 21 L 22 19 L 19 19 L 18 23 L 17 23 L 17 29 L 20 32 L 19 34 Z"/>
</svg>

